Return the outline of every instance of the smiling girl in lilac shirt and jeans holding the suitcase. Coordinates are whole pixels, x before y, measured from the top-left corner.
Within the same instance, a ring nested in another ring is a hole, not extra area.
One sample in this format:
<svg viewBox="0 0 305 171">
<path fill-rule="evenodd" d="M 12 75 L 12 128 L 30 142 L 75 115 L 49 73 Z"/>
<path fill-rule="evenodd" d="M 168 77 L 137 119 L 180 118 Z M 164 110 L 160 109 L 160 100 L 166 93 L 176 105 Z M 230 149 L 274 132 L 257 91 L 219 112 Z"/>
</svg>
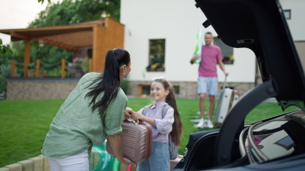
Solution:
<svg viewBox="0 0 305 171">
<path fill-rule="evenodd" d="M 137 170 L 170 170 L 170 158 L 168 149 L 168 134 L 172 137 L 172 142 L 180 146 L 180 137 L 183 126 L 180 114 L 177 109 L 173 87 L 164 77 L 153 79 L 150 96 L 155 103 L 149 105 L 145 116 L 142 114 L 144 108 L 132 114 L 134 120 L 140 119 L 149 124 L 153 131 L 153 154 L 144 162 L 138 163 Z M 170 105 L 164 118 L 163 108 Z"/>
</svg>

